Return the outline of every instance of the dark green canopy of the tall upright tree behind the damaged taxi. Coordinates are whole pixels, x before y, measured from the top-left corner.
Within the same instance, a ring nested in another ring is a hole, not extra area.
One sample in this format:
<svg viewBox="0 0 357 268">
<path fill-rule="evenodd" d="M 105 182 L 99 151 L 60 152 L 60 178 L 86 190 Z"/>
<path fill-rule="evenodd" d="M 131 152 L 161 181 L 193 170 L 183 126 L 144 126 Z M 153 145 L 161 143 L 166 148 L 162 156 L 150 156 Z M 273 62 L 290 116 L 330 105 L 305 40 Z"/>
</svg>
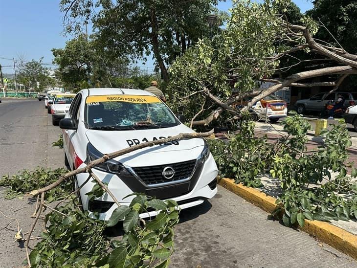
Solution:
<svg viewBox="0 0 357 268">
<path fill-rule="evenodd" d="M 218 12 L 216 4 L 217 0 L 62 0 L 60 6 L 66 12 L 67 31 L 75 31 L 91 19 L 99 49 L 112 58 L 129 55 L 145 60 L 153 53 L 168 82 L 167 66 L 210 34 L 206 16 Z M 92 14 L 93 6 L 100 8 L 97 15 Z M 218 25 L 223 17 L 221 13 Z"/>
</svg>

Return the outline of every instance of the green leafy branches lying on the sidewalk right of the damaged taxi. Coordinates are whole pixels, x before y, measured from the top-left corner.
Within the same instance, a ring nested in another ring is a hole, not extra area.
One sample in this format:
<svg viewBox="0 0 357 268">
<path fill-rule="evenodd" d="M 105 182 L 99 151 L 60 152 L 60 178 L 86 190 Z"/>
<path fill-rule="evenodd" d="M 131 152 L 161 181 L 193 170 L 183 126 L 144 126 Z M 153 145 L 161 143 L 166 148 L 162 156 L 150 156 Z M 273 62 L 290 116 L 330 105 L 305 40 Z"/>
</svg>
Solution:
<svg viewBox="0 0 357 268">
<path fill-rule="evenodd" d="M 309 122 L 299 115 L 284 121 L 286 136 L 269 142 L 254 137 L 254 122 L 242 121 L 240 132 L 228 143 L 211 141 L 211 152 L 222 177 L 235 179 L 248 187 L 262 187 L 259 176 L 280 181 L 281 207 L 287 226 L 304 225 L 304 219 L 331 221 L 357 219 L 357 176 L 353 163 L 347 162 L 352 142 L 344 122 L 326 131 L 325 145 L 308 153 L 305 145 Z M 347 167 L 352 167 L 351 177 Z M 334 176 L 335 175 L 335 176 Z"/>
</svg>

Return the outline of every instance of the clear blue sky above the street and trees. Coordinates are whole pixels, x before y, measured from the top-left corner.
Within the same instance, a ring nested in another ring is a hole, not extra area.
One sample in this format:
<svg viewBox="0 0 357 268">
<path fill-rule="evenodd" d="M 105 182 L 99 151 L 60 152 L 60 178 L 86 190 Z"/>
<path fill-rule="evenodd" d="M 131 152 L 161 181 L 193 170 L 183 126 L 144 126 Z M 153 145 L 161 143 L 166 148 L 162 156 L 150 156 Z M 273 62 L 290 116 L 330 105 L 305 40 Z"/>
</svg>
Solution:
<svg viewBox="0 0 357 268">
<path fill-rule="evenodd" d="M 311 0 L 293 0 L 302 12 L 312 7 Z M 12 62 L 2 59 L 24 56 L 26 60 L 52 61 L 51 49 L 64 47 L 70 37 L 62 35 L 63 14 L 59 0 L 0 0 L 0 64 L 4 73 L 12 73 Z M 220 2 L 218 8 L 228 10 L 231 1 Z M 152 67 L 152 61 L 146 67 Z M 48 65 L 48 67 L 50 67 Z"/>
</svg>

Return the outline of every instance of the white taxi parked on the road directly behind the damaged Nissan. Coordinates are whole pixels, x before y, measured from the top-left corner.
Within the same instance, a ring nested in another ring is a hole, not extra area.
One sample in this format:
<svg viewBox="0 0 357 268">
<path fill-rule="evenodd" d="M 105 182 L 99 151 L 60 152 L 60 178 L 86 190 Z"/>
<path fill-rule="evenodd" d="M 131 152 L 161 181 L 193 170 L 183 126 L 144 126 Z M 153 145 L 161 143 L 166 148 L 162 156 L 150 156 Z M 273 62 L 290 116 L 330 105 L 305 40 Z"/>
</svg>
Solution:
<svg viewBox="0 0 357 268">
<path fill-rule="evenodd" d="M 56 94 L 51 104 L 52 125 L 58 126 L 62 118 L 65 118 L 75 94 Z"/>
</svg>

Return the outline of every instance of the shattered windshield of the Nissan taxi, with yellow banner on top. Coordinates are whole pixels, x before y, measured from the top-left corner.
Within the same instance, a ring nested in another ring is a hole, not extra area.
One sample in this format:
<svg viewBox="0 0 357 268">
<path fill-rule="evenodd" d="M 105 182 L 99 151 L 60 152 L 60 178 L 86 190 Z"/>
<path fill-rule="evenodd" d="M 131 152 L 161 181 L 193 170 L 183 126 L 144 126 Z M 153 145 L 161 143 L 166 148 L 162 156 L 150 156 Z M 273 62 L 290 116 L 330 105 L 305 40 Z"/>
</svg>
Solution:
<svg viewBox="0 0 357 268">
<path fill-rule="evenodd" d="M 86 99 L 89 129 L 134 130 L 167 128 L 179 122 L 155 96 L 105 95 Z"/>
</svg>

